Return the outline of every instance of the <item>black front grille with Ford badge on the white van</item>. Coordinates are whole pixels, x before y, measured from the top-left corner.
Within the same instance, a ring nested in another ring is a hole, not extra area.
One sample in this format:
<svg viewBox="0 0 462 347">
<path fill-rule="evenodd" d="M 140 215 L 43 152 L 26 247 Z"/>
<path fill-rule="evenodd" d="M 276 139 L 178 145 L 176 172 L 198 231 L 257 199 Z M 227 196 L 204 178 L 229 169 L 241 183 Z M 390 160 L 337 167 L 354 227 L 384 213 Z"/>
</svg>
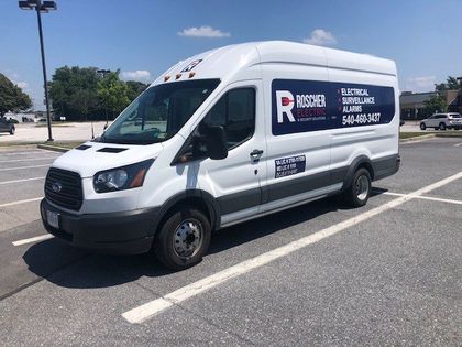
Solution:
<svg viewBox="0 0 462 347">
<path fill-rule="evenodd" d="M 53 185 L 55 184 L 55 189 Z M 57 187 L 61 186 L 61 189 Z M 68 209 L 79 210 L 84 200 L 81 178 L 76 172 L 51 167 L 45 181 L 46 198 Z"/>
</svg>

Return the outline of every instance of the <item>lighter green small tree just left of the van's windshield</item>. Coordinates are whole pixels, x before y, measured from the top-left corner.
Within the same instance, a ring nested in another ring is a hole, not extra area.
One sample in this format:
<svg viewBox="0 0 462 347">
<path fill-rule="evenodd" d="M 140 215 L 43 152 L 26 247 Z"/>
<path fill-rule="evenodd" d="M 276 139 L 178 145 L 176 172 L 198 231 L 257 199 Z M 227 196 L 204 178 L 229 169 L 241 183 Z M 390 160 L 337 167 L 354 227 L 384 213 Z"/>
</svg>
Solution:
<svg viewBox="0 0 462 347">
<path fill-rule="evenodd" d="M 120 71 L 107 74 L 98 82 L 97 94 L 111 117 L 119 115 L 129 104 L 129 87 L 119 78 Z"/>
</svg>

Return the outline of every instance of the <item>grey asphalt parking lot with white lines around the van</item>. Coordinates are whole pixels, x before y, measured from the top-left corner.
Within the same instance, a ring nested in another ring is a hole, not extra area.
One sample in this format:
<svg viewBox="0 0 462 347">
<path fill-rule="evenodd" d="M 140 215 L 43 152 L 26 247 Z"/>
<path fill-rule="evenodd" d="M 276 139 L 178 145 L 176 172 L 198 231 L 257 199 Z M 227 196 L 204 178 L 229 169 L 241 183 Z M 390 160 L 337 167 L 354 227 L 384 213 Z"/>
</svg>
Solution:
<svg viewBox="0 0 462 347">
<path fill-rule="evenodd" d="M 220 230 L 177 273 L 48 238 L 38 202 L 59 154 L 1 151 L 0 345 L 461 345 L 461 143 L 403 144 L 367 206 Z"/>
</svg>

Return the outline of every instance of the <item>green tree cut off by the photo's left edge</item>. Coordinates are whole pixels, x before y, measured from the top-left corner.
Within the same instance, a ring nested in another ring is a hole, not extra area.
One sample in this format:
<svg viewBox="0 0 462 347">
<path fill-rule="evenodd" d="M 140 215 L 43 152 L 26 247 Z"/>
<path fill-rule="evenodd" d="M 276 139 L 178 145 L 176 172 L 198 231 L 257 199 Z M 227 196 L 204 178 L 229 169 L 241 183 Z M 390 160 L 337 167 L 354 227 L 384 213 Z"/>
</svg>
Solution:
<svg viewBox="0 0 462 347">
<path fill-rule="evenodd" d="M 0 117 L 9 111 L 22 111 L 32 107 L 29 95 L 7 76 L 0 74 Z"/>
</svg>

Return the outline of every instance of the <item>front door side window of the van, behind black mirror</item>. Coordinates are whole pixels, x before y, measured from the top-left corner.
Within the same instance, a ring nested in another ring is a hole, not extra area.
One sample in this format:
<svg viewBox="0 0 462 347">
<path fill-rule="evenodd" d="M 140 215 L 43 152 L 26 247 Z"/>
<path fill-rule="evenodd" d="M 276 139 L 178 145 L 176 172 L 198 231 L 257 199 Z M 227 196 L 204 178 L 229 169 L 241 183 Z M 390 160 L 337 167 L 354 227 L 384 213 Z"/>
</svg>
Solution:
<svg viewBox="0 0 462 347">
<path fill-rule="evenodd" d="M 229 150 L 252 138 L 255 130 L 255 89 L 238 88 L 223 95 L 200 122 L 199 133 L 204 132 L 204 127 L 211 126 L 223 127 Z"/>
</svg>

